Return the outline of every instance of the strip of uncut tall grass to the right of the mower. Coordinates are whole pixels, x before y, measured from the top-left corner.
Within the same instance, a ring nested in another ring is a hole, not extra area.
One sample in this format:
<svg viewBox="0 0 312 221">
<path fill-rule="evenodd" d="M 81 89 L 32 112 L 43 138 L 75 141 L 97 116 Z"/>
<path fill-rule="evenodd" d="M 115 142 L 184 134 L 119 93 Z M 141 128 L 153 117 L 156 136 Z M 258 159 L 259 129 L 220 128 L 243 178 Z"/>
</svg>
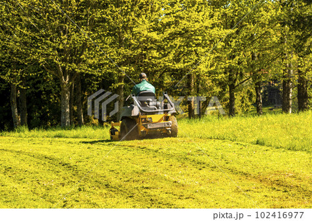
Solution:
<svg viewBox="0 0 312 221">
<path fill-rule="evenodd" d="M 287 150 L 312 150 L 312 112 L 182 119 L 179 136 L 221 139 Z"/>
</svg>

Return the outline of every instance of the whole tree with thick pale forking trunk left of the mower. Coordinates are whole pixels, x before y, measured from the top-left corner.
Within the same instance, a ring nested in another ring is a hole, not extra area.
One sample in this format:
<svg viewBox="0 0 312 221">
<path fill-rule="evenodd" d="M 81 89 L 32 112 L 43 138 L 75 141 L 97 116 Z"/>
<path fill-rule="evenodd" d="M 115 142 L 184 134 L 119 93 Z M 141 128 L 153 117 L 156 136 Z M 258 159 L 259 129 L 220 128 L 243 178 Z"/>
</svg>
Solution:
<svg viewBox="0 0 312 221">
<path fill-rule="evenodd" d="M 30 18 L 36 27 L 30 35 L 36 39 L 33 58 L 60 81 L 61 125 L 69 126 L 71 88 L 89 46 L 89 39 L 78 26 L 83 27 L 85 33 L 92 28 L 96 2 L 56 1 L 56 4 L 52 1 L 19 3 L 24 16 Z M 70 18 L 76 21 L 77 26 Z"/>
</svg>

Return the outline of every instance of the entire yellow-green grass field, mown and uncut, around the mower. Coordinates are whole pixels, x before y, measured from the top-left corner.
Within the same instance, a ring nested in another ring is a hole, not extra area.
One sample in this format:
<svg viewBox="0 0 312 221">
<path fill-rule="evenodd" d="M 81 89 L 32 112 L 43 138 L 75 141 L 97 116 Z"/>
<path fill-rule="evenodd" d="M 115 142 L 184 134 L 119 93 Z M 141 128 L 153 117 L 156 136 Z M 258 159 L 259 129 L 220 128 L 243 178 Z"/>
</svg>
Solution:
<svg viewBox="0 0 312 221">
<path fill-rule="evenodd" d="M 0 134 L 0 208 L 311 208 L 312 112 L 182 119 L 177 138 L 108 127 Z"/>
</svg>

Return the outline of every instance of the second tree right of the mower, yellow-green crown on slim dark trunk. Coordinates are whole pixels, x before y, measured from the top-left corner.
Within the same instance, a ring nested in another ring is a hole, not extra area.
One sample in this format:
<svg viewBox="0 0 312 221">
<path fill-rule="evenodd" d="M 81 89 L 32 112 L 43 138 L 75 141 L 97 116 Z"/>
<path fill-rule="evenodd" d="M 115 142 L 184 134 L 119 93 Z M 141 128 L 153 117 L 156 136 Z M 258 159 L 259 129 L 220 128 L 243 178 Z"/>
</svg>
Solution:
<svg viewBox="0 0 312 221">
<path fill-rule="evenodd" d="M 257 8 L 256 1 L 220 1 L 220 20 L 225 35 L 216 47 L 216 71 L 211 77 L 222 82 L 228 90 L 229 115 L 236 114 L 236 92 L 239 87 L 250 81 L 251 73 L 248 68 L 254 33 L 257 33 L 257 23 L 266 17 L 261 16 L 261 8 Z M 252 12 L 248 12 L 252 8 Z M 252 22 L 254 21 L 254 22 Z M 255 23 L 255 24 L 253 24 Z M 259 34 L 262 37 L 261 34 Z M 257 40 L 261 40 L 257 37 Z M 255 70 L 254 70 L 255 72 Z M 217 76 L 215 76 L 217 75 Z"/>
</svg>

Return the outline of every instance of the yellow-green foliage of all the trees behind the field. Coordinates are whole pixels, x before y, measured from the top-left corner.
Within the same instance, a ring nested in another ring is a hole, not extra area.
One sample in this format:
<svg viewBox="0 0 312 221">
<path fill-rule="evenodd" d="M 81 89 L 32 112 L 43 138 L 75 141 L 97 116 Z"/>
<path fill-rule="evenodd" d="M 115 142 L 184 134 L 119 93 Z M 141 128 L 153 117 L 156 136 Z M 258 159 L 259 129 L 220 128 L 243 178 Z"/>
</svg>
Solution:
<svg viewBox="0 0 312 221">
<path fill-rule="evenodd" d="M 256 83 L 283 80 L 290 62 L 294 86 L 297 70 L 311 84 L 312 5 L 306 0 L 55 3 L 68 17 L 52 1 L 0 3 L 0 93 L 9 96 L 10 85 L 27 89 L 32 128 L 59 124 L 60 112 L 69 109 L 60 94 L 77 85 L 78 76 L 85 112 L 87 96 L 98 89 L 128 96 L 140 72 L 157 96 L 168 91 L 175 98 L 189 94 L 189 73 L 193 95 L 218 96 L 227 112 L 231 85 L 237 114 L 252 107 Z M 67 97 L 76 114 L 76 88 Z M 10 111 L 8 100 L 3 108 Z M 1 121 L 0 128 L 11 123 Z"/>
</svg>

